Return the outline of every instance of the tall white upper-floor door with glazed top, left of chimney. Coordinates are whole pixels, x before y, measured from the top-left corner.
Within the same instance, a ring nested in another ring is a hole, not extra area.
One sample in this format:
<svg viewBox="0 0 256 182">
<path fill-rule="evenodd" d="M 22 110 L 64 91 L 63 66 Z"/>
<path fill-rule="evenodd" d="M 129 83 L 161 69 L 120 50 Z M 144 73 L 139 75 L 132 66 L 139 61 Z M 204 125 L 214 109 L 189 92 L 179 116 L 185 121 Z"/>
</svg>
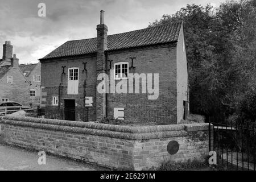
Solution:
<svg viewBox="0 0 256 182">
<path fill-rule="evenodd" d="M 68 69 L 68 94 L 78 94 L 79 68 Z"/>
</svg>

